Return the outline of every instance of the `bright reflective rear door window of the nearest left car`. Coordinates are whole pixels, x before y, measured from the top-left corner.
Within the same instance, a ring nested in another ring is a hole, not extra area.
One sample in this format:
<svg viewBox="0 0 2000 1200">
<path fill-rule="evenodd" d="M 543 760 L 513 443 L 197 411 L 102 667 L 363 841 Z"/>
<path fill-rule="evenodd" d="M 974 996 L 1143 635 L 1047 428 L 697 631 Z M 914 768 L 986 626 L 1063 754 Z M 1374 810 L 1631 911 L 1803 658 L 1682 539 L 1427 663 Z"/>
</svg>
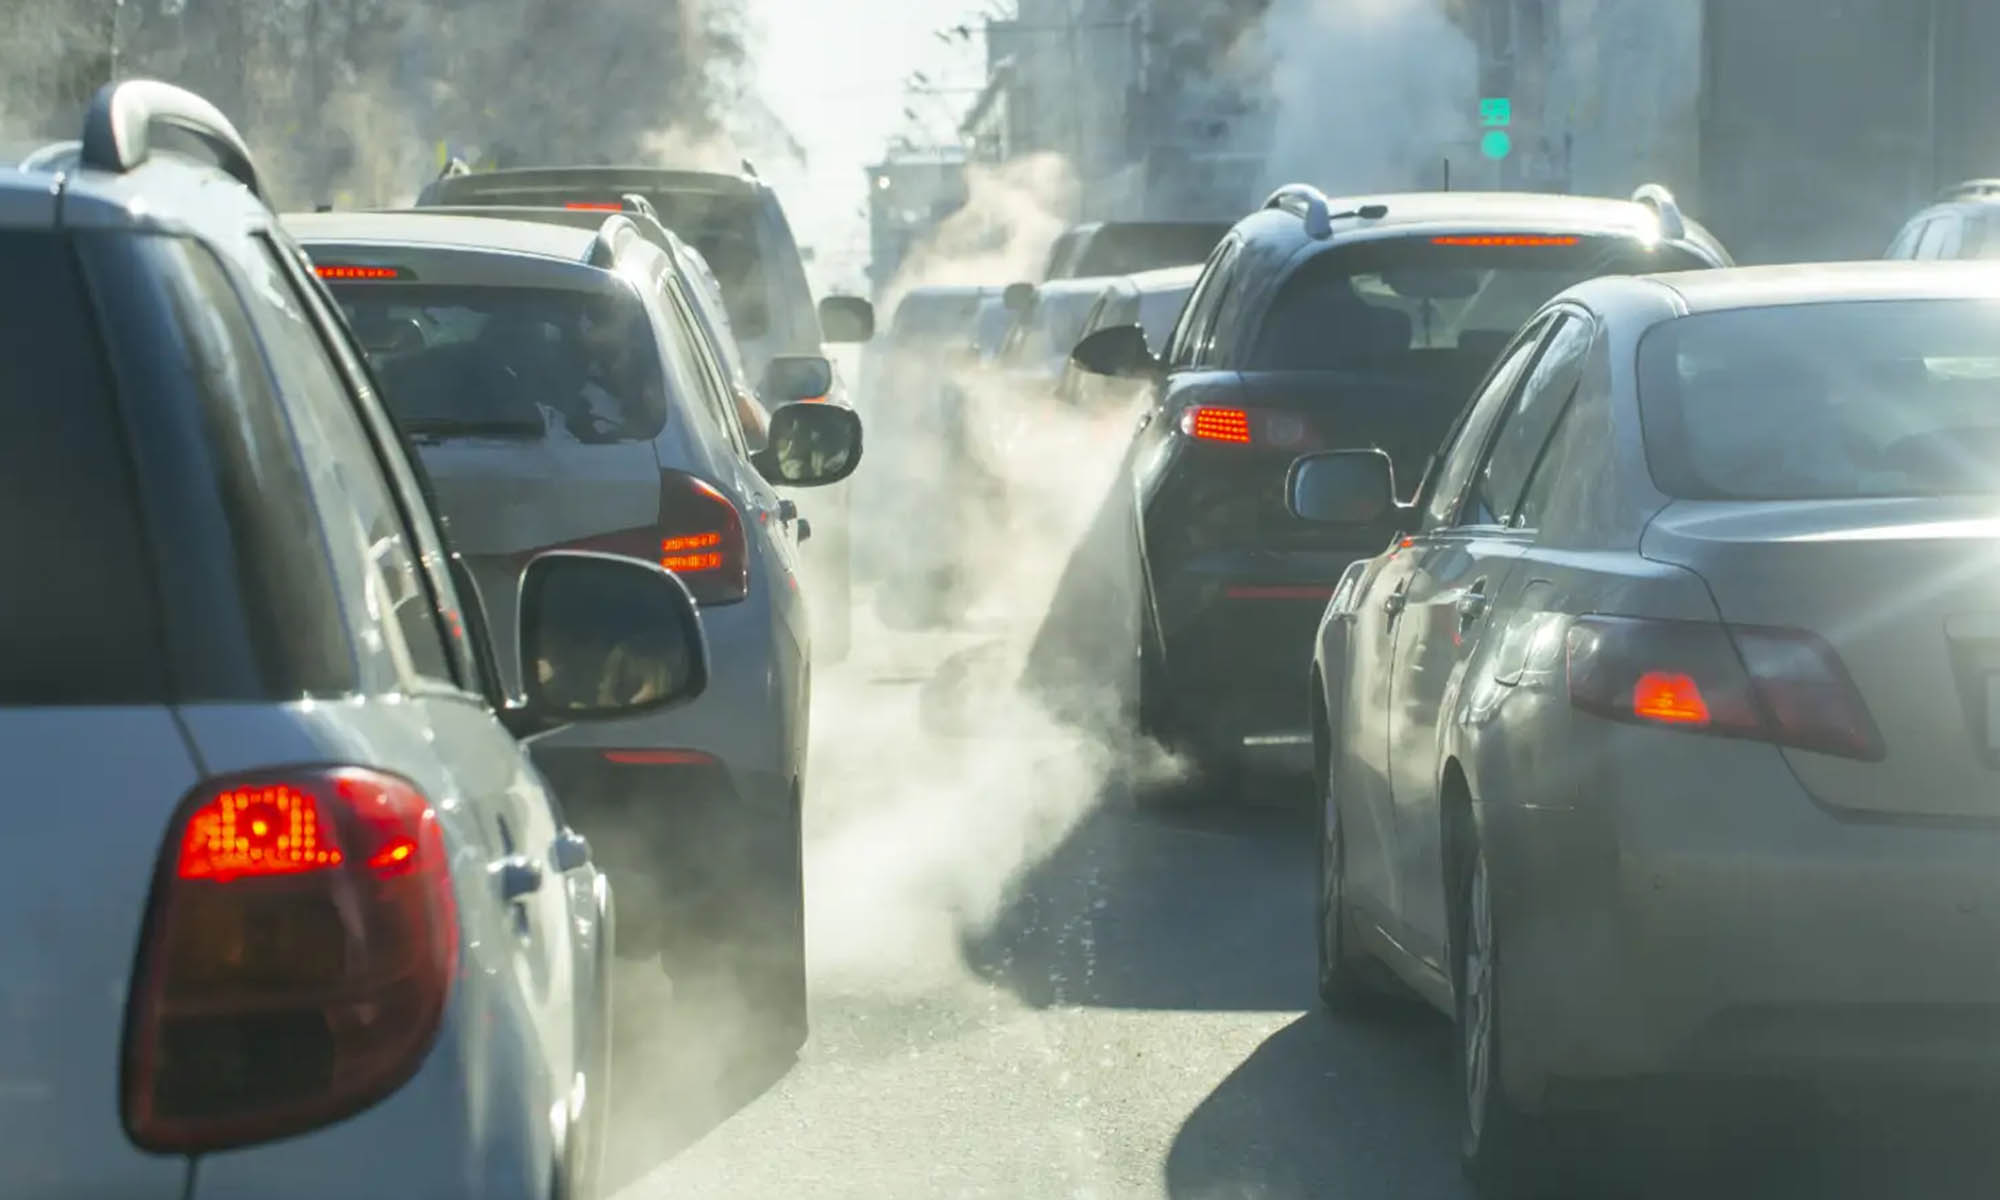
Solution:
<svg viewBox="0 0 2000 1200">
<path fill-rule="evenodd" d="M 366 596 L 366 608 L 348 614 L 358 644 L 364 654 L 386 654 L 404 686 L 430 680 L 458 688 L 402 512 L 354 414 L 346 382 L 328 362 L 326 344 L 306 318 L 276 246 L 258 240 L 258 250 L 264 270 L 252 270 L 262 300 L 252 306 L 256 324 L 272 350 L 280 398 L 312 466 L 334 566 L 350 588 L 358 588 L 350 596 Z"/>
</svg>

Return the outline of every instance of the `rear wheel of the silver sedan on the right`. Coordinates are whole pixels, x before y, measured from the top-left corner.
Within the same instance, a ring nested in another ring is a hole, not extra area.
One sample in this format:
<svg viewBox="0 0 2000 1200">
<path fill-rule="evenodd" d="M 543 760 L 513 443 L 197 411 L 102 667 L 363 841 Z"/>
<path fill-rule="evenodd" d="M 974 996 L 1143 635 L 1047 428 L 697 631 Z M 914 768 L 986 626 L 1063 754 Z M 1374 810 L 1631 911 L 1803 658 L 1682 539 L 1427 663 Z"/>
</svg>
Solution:
<svg viewBox="0 0 2000 1200">
<path fill-rule="evenodd" d="M 1492 872 L 1470 820 L 1462 822 L 1458 904 L 1452 906 L 1452 978 L 1456 996 L 1458 1080 L 1464 1098 L 1460 1162 L 1482 1200 L 1548 1196 L 1554 1172 L 1550 1124 L 1522 1110 L 1500 1072 L 1506 1052 L 1500 1012 L 1500 934 Z"/>
</svg>

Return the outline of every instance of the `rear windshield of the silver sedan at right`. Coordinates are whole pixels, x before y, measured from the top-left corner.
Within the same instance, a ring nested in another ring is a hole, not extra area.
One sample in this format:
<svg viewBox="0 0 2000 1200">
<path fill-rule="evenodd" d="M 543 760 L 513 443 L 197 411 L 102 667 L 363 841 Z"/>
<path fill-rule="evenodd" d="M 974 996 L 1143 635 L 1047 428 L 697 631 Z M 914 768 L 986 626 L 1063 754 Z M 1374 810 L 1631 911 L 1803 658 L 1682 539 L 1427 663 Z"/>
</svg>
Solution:
<svg viewBox="0 0 2000 1200">
<path fill-rule="evenodd" d="M 1688 316 L 1640 340 L 1654 482 L 1692 500 L 2000 492 L 2000 302 Z"/>
</svg>

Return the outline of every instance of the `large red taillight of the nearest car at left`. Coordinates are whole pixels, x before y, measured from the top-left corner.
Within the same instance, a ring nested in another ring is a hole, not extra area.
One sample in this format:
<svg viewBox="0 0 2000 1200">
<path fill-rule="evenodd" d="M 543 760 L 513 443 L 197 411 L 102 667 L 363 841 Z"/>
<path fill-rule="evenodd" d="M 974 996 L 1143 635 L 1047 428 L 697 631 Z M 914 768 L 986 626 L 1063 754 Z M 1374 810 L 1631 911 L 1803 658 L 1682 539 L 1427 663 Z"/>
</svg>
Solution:
<svg viewBox="0 0 2000 1200">
<path fill-rule="evenodd" d="M 192 1154 L 358 1112 L 424 1060 L 456 968 L 444 838 L 412 784 L 314 768 L 208 786 L 154 884 L 126 1130 Z"/>
</svg>

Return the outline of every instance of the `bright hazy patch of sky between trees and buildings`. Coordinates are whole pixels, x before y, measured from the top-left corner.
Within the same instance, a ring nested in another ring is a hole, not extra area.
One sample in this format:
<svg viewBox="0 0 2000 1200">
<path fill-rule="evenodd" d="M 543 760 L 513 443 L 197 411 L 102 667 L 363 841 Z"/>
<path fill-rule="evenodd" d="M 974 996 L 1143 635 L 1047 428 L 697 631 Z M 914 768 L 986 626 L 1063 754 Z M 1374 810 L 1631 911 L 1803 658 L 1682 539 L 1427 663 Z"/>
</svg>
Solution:
<svg viewBox="0 0 2000 1200">
<path fill-rule="evenodd" d="M 932 140 L 956 138 L 956 116 L 970 94 L 906 94 L 910 72 L 932 88 L 976 88 L 984 74 L 984 40 L 940 42 L 936 32 L 980 26 L 982 0 L 748 0 L 758 82 L 766 102 L 790 126 L 810 156 L 804 178 L 762 166 L 810 244 L 820 288 L 866 290 L 866 176 L 890 136 L 912 132 L 904 108 L 922 118 Z"/>
</svg>

